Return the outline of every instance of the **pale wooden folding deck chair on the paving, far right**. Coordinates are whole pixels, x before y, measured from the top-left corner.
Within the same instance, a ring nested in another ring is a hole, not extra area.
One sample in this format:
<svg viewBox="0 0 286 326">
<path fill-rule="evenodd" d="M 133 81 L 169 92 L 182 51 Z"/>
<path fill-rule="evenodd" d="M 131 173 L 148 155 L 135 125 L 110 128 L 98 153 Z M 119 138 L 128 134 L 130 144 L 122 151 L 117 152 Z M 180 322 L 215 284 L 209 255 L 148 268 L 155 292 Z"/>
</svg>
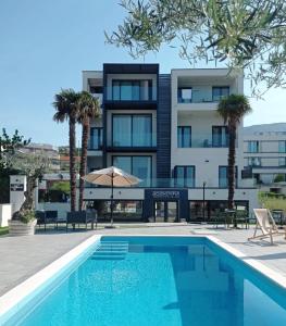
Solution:
<svg viewBox="0 0 286 326">
<path fill-rule="evenodd" d="M 282 236 L 286 239 L 286 230 L 279 231 L 274 218 L 271 213 L 266 209 L 254 209 L 254 215 L 257 217 L 257 225 L 254 229 L 254 234 L 248 240 L 253 239 L 264 239 L 270 237 L 271 244 L 273 244 L 273 236 Z M 258 230 L 261 230 L 261 235 L 257 235 Z"/>
</svg>

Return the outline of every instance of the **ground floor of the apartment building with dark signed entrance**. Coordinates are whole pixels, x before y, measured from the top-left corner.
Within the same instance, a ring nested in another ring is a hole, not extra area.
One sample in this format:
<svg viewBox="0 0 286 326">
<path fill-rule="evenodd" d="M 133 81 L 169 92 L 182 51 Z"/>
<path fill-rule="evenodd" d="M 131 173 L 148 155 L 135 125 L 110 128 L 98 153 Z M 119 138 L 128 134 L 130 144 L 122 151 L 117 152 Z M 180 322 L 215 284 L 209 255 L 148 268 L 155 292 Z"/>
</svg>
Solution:
<svg viewBox="0 0 286 326">
<path fill-rule="evenodd" d="M 86 188 L 87 208 L 98 212 L 100 221 L 110 218 L 111 190 Z M 113 218 L 117 222 L 212 222 L 227 209 L 227 189 L 221 188 L 115 188 Z M 254 188 L 237 188 L 236 209 L 252 212 L 258 208 Z"/>
</svg>

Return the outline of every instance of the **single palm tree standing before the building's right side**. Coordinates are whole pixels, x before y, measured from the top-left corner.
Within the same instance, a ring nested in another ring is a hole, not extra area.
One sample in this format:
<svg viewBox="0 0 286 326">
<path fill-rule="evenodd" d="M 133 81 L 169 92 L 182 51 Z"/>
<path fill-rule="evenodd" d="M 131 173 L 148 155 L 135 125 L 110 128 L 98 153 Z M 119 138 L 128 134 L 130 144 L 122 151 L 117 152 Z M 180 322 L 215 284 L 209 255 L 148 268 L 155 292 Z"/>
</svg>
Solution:
<svg viewBox="0 0 286 326">
<path fill-rule="evenodd" d="M 251 112 L 251 106 L 248 99 L 244 95 L 231 95 L 222 98 L 217 112 L 223 117 L 224 123 L 228 127 L 228 209 L 234 209 L 234 193 L 235 193 L 235 143 L 236 143 L 236 129 L 243 117 Z"/>
</svg>

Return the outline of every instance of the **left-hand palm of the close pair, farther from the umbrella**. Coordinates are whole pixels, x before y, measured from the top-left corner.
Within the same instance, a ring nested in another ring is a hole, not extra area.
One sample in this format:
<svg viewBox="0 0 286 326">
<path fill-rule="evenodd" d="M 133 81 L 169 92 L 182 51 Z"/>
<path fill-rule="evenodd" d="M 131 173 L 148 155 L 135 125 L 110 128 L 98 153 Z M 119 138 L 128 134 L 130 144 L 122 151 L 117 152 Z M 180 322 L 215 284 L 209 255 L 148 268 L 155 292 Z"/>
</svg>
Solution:
<svg viewBox="0 0 286 326">
<path fill-rule="evenodd" d="M 78 114 L 79 93 L 73 89 L 62 89 L 54 96 L 53 106 L 57 112 L 53 120 L 58 123 L 69 121 L 70 140 L 70 186 L 71 186 L 71 211 L 75 211 L 76 201 L 76 171 L 75 171 L 75 125 Z"/>
</svg>

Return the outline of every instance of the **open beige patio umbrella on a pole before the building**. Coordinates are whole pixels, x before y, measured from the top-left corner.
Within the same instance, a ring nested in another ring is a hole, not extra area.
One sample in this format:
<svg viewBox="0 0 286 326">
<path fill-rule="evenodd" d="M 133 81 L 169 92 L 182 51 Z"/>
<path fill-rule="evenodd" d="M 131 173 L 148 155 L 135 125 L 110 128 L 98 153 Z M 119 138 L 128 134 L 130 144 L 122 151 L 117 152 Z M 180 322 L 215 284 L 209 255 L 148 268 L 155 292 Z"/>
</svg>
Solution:
<svg viewBox="0 0 286 326">
<path fill-rule="evenodd" d="M 141 180 L 134 175 L 130 175 L 123 170 L 115 166 L 90 172 L 83 177 L 90 184 L 110 186 L 111 187 L 111 201 L 110 201 L 110 221 L 113 225 L 113 188 L 114 187 L 129 187 L 139 184 Z"/>
</svg>

